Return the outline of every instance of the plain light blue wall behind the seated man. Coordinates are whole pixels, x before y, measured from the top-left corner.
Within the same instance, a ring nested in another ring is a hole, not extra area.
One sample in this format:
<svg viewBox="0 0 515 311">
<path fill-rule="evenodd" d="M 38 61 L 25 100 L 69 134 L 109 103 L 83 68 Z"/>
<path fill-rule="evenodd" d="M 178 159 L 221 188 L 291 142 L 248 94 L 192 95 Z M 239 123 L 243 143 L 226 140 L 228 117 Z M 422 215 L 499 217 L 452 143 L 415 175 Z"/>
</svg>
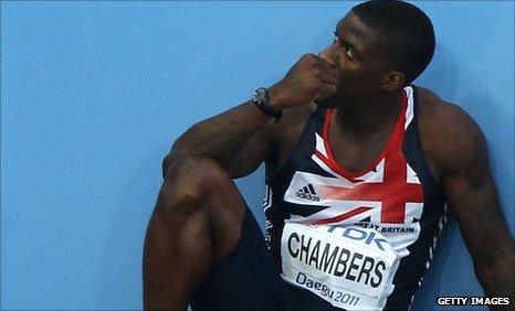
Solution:
<svg viewBox="0 0 515 311">
<path fill-rule="evenodd" d="M 139 309 L 172 141 L 329 44 L 354 4 L 2 2 L 1 308 Z M 481 125 L 513 235 L 514 3 L 417 4 L 438 36 L 418 84 Z M 263 170 L 238 184 L 262 219 Z M 482 294 L 452 221 L 413 309 L 449 310 L 439 294 Z"/>
</svg>

